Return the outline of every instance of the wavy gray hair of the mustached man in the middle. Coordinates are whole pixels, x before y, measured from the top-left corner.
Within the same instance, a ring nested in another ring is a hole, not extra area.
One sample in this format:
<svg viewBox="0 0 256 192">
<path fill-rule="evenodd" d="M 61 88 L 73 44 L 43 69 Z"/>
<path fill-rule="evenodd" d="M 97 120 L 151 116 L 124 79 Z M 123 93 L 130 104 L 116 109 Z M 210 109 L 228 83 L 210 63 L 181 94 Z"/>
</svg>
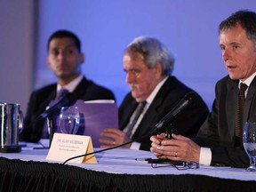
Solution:
<svg viewBox="0 0 256 192">
<path fill-rule="evenodd" d="M 174 57 L 167 47 L 159 40 L 148 36 L 139 36 L 128 44 L 125 52 L 140 52 L 148 68 L 154 68 L 159 63 L 163 68 L 163 75 L 171 75 Z"/>
</svg>

